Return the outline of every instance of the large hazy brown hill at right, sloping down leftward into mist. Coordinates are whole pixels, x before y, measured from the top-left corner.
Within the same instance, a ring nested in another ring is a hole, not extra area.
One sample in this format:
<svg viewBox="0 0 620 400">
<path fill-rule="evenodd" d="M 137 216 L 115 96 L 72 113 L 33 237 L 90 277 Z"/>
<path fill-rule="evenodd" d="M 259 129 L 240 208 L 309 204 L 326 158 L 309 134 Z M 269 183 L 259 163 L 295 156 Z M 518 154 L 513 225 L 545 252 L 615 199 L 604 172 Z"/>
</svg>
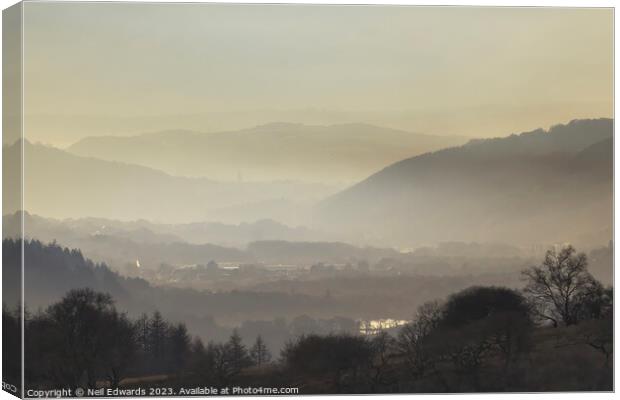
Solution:
<svg viewBox="0 0 620 400">
<path fill-rule="evenodd" d="M 378 242 L 516 244 L 611 239 L 613 121 L 469 143 L 408 158 L 326 199 L 325 226 Z"/>
</svg>

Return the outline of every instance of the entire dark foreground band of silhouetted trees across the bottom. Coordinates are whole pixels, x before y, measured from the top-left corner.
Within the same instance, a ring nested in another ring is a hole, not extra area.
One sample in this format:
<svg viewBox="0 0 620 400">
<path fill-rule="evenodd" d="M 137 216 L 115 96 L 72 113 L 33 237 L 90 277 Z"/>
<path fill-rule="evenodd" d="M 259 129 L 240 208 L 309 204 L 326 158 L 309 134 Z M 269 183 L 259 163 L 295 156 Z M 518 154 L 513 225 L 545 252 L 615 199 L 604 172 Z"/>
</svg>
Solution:
<svg viewBox="0 0 620 400">
<path fill-rule="evenodd" d="M 610 390 L 612 289 L 572 247 L 549 251 L 522 276 L 521 291 L 471 287 L 426 303 L 394 336 L 299 335 L 278 357 L 260 335 L 249 347 L 236 330 L 205 344 L 159 312 L 132 320 L 108 294 L 71 290 L 26 313 L 26 384 L 130 386 L 138 383 L 126 378 L 148 376 L 166 386 L 295 385 L 302 393 Z M 4 343 L 18 318 L 3 308 Z"/>
</svg>

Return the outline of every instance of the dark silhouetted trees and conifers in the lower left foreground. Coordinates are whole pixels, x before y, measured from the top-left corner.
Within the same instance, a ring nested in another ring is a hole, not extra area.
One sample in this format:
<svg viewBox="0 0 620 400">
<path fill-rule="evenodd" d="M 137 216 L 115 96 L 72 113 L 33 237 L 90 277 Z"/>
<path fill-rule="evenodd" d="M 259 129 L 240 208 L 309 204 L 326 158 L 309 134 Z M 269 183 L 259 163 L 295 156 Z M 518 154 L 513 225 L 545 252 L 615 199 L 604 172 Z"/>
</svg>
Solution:
<svg viewBox="0 0 620 400">
<path fill-rule="evenodd" d="M 19 318 L 19 311 L 3 309 L 5 340 L 19 337 Z M 110 295 L 89 288 L 71 290 L 46 310 L 26 313 L 24 326 L 30 388 L 118 387 L 131 376 L 182 379 L 197 373 L 226 385 L 242 369 L 271 361 L 261 336 L 249 348 L 236 330 L 225 343 L 204 345 L 183 323 L 171 323 L 157 311 L 131 320 Z"/>
</svg>

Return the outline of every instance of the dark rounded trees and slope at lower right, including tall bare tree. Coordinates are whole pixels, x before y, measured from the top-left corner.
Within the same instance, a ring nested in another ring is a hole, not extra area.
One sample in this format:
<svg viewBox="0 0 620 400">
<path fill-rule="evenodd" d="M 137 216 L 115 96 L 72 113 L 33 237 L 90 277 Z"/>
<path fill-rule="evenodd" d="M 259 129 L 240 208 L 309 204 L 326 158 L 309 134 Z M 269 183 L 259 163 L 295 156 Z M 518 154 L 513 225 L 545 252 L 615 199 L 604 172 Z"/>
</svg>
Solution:
<svg viewBox="0 0 620 400">
<path fill-rule="evenodd" d="M 283 362 L 343 393 L 611 390 L 612 289 L 570 246 L 522 277 L 428 302 L 396 337 L 302 336 Z"/>
</svg>

